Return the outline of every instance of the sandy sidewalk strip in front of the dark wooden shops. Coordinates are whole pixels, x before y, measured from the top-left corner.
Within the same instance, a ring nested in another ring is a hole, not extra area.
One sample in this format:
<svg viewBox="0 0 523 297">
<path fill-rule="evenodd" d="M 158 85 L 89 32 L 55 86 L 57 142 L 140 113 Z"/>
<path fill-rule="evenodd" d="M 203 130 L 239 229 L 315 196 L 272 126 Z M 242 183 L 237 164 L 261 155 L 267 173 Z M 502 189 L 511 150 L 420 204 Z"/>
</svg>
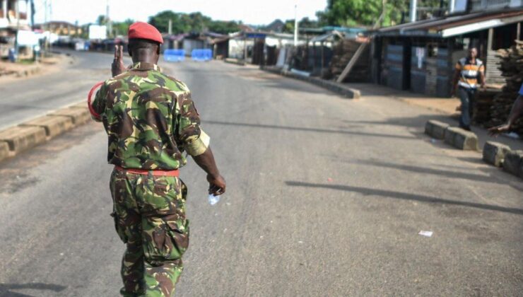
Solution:
<svg viewBox="0 0 523 297">
<path fill-rule="evenodd" d="M 387 88 L 385 86 L 380 86 L 372 83 L 344 83 L 350 88 L 355 88 L 360 90 L 361 98 L 363 100 L 372 100 L 379 99 L 380 97 L 387 97 L 396 100 L 401 100 L 404 103 L 409 105 L 416 105 L 418 107 L 423 107 L 428 110 L 436 112 L 436 115 L 433 115 L 431 118 L 427 117 L 424 120 L 439 120 L 441 122 L 446 122 L 451 126 L 457 127 L 459 112 L 456 111 L 456 107 L 460 105 L 459 99 L 457 98 L 433 98 L 428 97 L 423 94 L 411 93 L 409 91 L 398 91 L 393 88 Z M 417 123 L 419 124 L 419 123 Z M 422 128 L 422 126 L 420 126 Z M 519 139 L 512 139 L 508 136 L 498 136 L 492 137 L 488 135 L 486 129 L 482 127 L 472 127 L 472 132 L 476 133 L 479 140 L 480 148 L 483 148 L 483 145 L 486 141 L 496 141 L 501 144 L 506 144 L 510 146 L 512 150 L 523 150 L 523 141 Z"/>
</svg>

